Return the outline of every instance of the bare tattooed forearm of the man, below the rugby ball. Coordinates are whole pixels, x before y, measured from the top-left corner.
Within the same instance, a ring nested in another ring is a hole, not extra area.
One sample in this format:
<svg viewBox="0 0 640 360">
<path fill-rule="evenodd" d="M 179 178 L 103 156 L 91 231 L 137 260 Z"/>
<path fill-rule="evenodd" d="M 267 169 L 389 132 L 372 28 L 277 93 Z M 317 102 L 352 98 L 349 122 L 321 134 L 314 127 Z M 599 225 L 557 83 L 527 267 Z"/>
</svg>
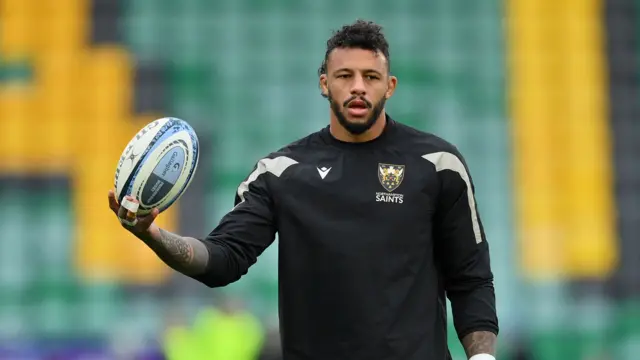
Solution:
<svg viewBox="0 0 640 360">
<path fill-rule="evenodd" d="M 209 251 L 198 239 L 180 236 L 156 227 L 141 240 L 172 269 L 184 275 L 200 275 L 209 262 Z"/>
</svg>

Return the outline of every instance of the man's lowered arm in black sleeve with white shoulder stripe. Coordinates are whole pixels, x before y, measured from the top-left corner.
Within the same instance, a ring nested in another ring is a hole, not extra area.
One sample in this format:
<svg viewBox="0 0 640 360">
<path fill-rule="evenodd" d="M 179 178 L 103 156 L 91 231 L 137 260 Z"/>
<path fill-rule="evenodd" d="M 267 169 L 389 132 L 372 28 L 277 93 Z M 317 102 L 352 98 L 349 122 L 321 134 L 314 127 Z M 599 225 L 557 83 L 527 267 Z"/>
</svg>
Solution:
<svg viewBox="0 0 640 360">
<path fill-rule="evenodd" d="M 495 356 L 498 318 L 493 273 L 473 182 L 456 150 L 428 154 L 440 179 L 435 251 L 458 337 L 471 358 Z"/>
</svg>

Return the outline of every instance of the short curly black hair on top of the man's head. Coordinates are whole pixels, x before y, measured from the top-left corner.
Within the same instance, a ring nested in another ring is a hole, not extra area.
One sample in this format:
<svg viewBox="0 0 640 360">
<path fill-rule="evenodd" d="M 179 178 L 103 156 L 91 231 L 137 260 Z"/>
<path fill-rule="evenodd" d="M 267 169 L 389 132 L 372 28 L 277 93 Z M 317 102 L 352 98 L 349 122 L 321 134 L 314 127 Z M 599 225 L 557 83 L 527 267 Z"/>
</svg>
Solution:
<svg viewBox="0 0 640 360">
<path fill-rule="evenodd" d="M 379 51 L 387 58 L 387 67 L 390 69 L 389 43 L 384 37 L 382 26 L 373 21 L 356 20 L 353 24 L 344 25 L 340 30 L 334 31 L 333 36 L 327 40 L 327 50 L 318 69 L 318 76 L 326 74 L 327 58 L 336 48 Z"/>
</svg>

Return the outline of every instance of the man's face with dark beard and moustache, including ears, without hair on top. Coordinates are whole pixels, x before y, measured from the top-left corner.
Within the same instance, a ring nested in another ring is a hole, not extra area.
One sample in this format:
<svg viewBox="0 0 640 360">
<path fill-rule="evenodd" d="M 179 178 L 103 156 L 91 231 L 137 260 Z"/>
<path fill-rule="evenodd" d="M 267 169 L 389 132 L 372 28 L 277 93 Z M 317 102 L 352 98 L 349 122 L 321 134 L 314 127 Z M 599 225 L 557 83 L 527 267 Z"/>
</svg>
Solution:
<svg viewBox="0 0 640 360">
<path fill-rule="evenodd" d="M 327 73 L 320 76 L 331 110 L 354 135 L 376 123 L 396 84 L 382 53 L 356 48 L 334 49 L 327 59 Z"/>
</svg>

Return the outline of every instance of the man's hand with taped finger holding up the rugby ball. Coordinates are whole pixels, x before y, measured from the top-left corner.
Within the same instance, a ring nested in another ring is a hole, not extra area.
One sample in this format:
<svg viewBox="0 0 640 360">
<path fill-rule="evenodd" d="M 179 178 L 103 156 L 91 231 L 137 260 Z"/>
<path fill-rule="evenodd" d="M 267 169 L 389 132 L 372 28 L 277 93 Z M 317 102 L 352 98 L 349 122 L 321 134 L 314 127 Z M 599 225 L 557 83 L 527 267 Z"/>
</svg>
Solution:
<svg viewBox="0 0 640 360">
<path fill-rule="evenodd" d="M 157 227 L 153 224 L 160 213 L 157 208 L 146 216 L 138 216 L 138 200 L 131 196 L 125 196 L 122 204 L 118 204 L 113 190 L 109 190 L 109 208 L 116 214 L 122 227 L 138 238 L 145 240 L 153 235 L 154 230 L 157 232 Z"/>
</svg>

